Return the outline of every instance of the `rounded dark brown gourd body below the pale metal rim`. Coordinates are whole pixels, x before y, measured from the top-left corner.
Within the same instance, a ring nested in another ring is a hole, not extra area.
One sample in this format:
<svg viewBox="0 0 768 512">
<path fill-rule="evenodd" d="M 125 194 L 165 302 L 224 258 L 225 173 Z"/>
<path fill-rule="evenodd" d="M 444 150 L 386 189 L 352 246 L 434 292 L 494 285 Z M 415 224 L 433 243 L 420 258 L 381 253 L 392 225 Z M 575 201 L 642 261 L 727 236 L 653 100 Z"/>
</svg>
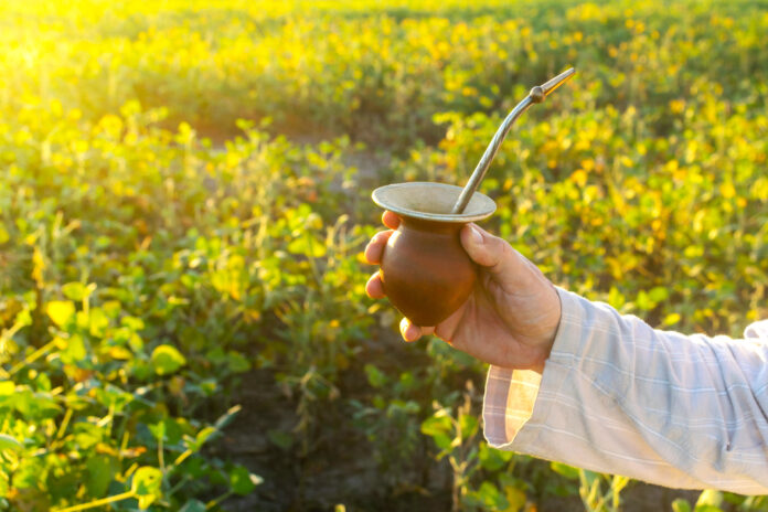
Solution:
<svg viewBox="0 0 768 512">
<path fill-rule="evenodd" d="M 472 292 L 477 268 L 459 238 L 466 223 L 401 216 L 381 264 L 384 292 L 417 326 L 437 326 Z"/>
</svg>

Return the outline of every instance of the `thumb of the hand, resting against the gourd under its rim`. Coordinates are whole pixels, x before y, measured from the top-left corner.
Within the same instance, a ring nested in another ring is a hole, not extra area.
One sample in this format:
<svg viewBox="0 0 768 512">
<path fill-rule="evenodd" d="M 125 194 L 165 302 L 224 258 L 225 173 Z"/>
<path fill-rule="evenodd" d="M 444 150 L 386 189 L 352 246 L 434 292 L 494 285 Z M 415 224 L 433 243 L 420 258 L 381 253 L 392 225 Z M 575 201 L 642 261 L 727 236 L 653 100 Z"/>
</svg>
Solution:
<svg viewBox="0 0 768 512">
<path fill-rule="evenodd" d="M 484 267 L 503 288 L 514 289 L 529 274 L 527 260 L 520 253 L 476 224 L 461 230 L 461 245 L 472 262 Z"/>
</svg>

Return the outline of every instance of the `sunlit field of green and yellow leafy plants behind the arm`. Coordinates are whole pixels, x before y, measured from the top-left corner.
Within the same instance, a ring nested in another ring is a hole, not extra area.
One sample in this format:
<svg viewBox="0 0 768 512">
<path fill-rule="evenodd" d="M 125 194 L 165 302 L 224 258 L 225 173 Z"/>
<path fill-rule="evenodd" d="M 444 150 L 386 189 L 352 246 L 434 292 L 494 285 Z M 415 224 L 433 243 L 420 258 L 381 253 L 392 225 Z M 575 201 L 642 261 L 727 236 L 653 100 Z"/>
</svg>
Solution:
<svg viewBox="0 0 768 512">
<path fill-rule="evenodd" d="M 0 511 L 768 510 L 482 439 L 483 364 L 364 294 L 370 200 L 654 327 L 768 318 L 768 3 L 0 4 Z"/>
</svg>

